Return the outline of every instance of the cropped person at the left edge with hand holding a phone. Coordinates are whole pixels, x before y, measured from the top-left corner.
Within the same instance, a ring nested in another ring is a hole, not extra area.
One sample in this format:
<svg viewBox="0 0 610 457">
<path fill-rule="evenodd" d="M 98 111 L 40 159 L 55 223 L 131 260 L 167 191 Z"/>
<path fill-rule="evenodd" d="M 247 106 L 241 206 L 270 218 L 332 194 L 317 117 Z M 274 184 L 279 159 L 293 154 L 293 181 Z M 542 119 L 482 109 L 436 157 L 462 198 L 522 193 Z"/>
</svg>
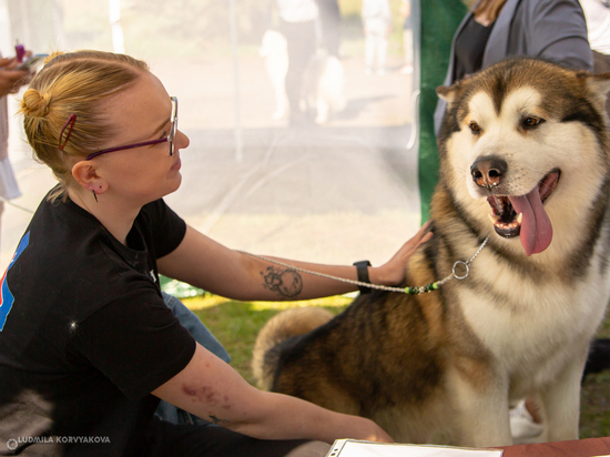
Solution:
<svg viewBox="0 0 610 457">
<path fill-rule="evenodd" d="M 9 161 L 8 97 L 28 82 L 29 71 L 17 70 L 17 59 L 0 57 L 0 234 L 4 202 L 21 195 Z"/>
</svg>

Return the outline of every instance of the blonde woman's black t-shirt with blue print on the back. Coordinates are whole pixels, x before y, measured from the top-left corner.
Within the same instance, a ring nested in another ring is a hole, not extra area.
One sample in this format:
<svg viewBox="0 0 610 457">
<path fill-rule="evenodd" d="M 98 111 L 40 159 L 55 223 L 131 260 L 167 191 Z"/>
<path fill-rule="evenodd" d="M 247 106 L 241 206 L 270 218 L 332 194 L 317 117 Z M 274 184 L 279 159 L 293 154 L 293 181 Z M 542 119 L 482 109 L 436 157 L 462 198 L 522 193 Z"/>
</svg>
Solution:
<svg viewBox="0 0 610 457">
<path fill-rule="evenodd" d="M 125 247 L 73 202 L 41 203 L 1 282 L 0 455 L 145 451 L 150 392 L 195 351 L 156 272 L 185 230 L 160 200 Z"/>
</svg>

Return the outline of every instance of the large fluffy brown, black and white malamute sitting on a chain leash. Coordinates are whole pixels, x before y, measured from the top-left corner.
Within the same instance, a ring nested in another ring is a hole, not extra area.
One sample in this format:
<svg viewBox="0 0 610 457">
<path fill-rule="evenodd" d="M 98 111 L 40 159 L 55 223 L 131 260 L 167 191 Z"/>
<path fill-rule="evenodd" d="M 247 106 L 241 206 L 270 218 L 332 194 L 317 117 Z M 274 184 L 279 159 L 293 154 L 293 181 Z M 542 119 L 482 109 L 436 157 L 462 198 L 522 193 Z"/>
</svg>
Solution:
<svg viewBox="0 0 610 457">
<path fill-rule="evenodd" d="M 449 280 L 359 295 L 335 317 L 276 315 L 254 347 L 260 386 L 368 417 L 397 441 L 467 447 L 512 444 L 509 405 L 531 397 L 542 439 L 577 439 L 610 298 L 609 89 L 610 73 L 531 58 L 438 88 L 434 237 L 406 283 Z"/>
</svg>

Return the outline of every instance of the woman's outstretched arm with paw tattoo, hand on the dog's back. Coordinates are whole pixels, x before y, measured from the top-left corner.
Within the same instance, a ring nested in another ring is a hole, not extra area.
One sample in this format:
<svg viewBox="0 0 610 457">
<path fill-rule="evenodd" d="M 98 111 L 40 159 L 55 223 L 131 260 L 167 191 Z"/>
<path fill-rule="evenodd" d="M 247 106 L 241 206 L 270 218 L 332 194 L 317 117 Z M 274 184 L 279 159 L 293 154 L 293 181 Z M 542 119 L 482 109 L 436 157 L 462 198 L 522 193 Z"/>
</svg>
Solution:
<svg viewBox="0 0 610 457">
<path fill-rule="evenodd" d="M 428 241 L 424 225 L 384 265 L 368 267 L 373 284 L 396 285 L 405 278 L 408 257 Z M 274 257 L 270 257 L 274 258 Z M 322 265 L 275 258 L 304 270 L 357 280 L 353 265 Z M 352 284 L 301 273 L 286 266 L 230 250 L 187 226 L 184 240 L 171 254 L 157 261 L 160 273 L 205 291 L 235 299 L 307 299 L 356 291 Z"/>
</svg>

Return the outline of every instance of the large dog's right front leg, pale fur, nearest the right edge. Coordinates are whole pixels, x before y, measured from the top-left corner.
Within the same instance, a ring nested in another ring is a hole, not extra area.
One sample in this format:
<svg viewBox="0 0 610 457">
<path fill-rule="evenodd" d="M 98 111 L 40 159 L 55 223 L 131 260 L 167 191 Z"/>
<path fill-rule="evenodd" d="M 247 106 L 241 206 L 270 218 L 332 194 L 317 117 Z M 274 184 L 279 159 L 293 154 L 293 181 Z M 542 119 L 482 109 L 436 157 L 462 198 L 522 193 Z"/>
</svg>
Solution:
<svg viewBox="0 0 610 457">
<path fill-rule="evenodd" d="M 580 382 L 586 359 L 587 347 L 566 364 L 547 388 L 540 389 L 549 441 L 578 439 Z"/>
</svg>

